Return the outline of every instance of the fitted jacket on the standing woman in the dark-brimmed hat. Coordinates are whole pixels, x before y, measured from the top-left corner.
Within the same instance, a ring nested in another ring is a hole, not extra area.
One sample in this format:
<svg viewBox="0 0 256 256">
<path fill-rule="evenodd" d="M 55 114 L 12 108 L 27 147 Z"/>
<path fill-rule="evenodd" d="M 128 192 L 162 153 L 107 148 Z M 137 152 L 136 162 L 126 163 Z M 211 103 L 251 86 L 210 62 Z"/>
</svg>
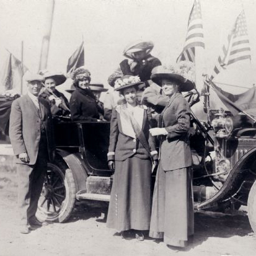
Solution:
<svg viewBox="0 0 256 256">
<path fill-rule="evenodd" d="M 159 117 L 159 127 L 166 128 L 168 135 L 162 136 L 161 164 L 164 170 L 176 170 L 192 165 L 188 141 L 190 130 L 190 108 L 182 94 L 177 93 Z"/>
</svg>

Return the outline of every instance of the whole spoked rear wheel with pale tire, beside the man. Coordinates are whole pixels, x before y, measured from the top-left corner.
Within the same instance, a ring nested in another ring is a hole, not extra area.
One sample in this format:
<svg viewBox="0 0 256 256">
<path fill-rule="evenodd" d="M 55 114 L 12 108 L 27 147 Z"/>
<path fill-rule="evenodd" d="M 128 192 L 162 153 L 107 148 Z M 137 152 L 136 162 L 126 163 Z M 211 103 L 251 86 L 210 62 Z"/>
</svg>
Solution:
<svg viewBox="0 0 256 256">
<path fill-rule="evenodd" d="M 37 218 L 40 221 L 68 220 L 76 204 L 74 176 L 61 157 L 48 163 L 45 182 L 38 201 Z"/>
</svg>

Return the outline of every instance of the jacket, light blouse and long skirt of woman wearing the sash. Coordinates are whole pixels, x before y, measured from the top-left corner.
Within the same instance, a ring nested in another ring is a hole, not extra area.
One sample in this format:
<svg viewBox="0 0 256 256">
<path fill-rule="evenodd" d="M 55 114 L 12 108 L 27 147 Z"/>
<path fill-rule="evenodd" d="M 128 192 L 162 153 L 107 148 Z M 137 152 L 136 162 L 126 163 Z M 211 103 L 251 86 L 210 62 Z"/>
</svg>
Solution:
<svg viewBox="0 0 256 256">
<path fill-rule="evenodd" d="M 108 208 L 107 227 L 118 232 L 129 229 L 148 230 L 151 215 L 151 159 L 136 137 L 131 123 L 121 112 L 127 104 L 113 110 L 110 124 L 108 160 L 115 160 L 115 174 Z M 149 135 L 148 110 L 134 108 L 133 117 L 148 140 L 152 155 L 156 152 Z M 154 155 L 157 157 L 157 154 Z"/>
</svg>

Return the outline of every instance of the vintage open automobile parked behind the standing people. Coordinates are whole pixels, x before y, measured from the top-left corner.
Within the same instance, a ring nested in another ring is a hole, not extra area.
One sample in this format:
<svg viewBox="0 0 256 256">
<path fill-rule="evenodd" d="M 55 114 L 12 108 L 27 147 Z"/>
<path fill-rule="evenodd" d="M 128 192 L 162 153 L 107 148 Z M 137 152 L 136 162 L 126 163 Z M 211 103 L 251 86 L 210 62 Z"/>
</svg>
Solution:
<svg viewBox="0 0 256 256">
<path fill-rule="evenodd" d="M 256 232 L 256 127 L 251 115 L 210 108 L 210 84 L 203 90 L 207 121 L 192 113 L 195 210 L 226 211 L 247 205 Z M 187 95 L 190 105 L 199 97 Z M 56 159 L 48 164 L 37 217 L 67 221 L 77 201 L 109 201 L 112 171 L 107 151 L 110 122 L 55 121 Z M 153 174 L 155 175 L 155 174 Z M 154 180 L 154 179 L 153 179 Z"/>
</svg>

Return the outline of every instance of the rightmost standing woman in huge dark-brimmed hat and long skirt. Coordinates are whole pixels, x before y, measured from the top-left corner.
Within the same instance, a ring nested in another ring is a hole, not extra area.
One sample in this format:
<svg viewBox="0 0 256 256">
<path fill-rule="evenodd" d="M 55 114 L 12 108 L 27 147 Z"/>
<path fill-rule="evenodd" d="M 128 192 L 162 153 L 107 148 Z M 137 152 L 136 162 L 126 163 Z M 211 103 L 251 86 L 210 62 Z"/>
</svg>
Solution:
<svg viewBox="0 0 256 256">
<path fill-rule="evenodd" d="M 176 68 L 160 66 L 151 76 L 170 100 L 158 128 L 150 130 L 160 137 L 161 145 L 149 236 L 178 247 L 186 246 L 193 234 L 190 108 L 181 94 L 194 89 L 193 75 L 190 64 L 180 63 Z"/>
</svg>

